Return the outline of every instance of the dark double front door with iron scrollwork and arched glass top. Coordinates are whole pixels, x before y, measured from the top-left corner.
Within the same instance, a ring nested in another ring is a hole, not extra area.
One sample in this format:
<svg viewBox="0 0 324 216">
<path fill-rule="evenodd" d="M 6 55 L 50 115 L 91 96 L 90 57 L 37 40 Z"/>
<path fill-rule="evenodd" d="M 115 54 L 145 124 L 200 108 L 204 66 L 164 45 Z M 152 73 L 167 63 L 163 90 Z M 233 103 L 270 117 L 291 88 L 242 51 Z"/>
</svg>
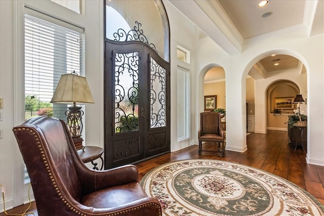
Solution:
<svg viewBox="0 0 324 216">
<path fill-rule="evenodd" d="M 160 1 L 106 1 L 105 168 L 170 152 L 169 22 Z"/>
</svg>

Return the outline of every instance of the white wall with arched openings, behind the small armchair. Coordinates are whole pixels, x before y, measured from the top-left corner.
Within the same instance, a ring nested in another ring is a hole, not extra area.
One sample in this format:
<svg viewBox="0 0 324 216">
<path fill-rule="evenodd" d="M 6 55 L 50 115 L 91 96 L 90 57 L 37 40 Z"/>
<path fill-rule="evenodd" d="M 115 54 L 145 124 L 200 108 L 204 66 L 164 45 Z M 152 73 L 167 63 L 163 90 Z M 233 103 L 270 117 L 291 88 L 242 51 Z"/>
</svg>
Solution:
<svg viewBox="0 0 324 216">
<path fill-rule="evenodd" d="M 307 162 L 324 165 L 324 126 L 323 126 L 323 34 L 307 37 L 304 32 L 290 32 L 280 36 L 264 35 L 265 39 L 256 38 L 248 41 L 242 53 L 228 56 L 210 38 L 200 39 L 196 50 L 196 71 L 194 81 L 199 103 L 197 110 L 203 111 L 203 79 L 206 67 L 217 64 L 226 73 L 226 149 L 245 151 L 245 92 L 246 76 L 252 66 L 271 54 L 287 54 L 296 57 L 307 70 L 307 87 L 303 85 L 303 76 L 271 76 L 256 81 L 255 86 L 255 131 L 266 133 L 266 89 L 278 79 L 289 79 L 299 85 L 301 93 L 307 91 L 308 130 Z M 198 118 L 196 118 L 198 121 Z"/>
</svg>

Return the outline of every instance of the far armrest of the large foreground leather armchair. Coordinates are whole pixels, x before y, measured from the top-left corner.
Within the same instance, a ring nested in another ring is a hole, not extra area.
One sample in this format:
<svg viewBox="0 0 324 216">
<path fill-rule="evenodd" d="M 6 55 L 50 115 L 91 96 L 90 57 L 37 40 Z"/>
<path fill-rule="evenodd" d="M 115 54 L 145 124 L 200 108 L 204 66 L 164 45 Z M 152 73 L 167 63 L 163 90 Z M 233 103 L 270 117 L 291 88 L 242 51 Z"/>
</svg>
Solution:
<svg viewBox="0 0 324 216">
<path fill-rule="evenodd" d="M 124 185 L 131 182 L 138 182 L 138 169 L 134 165 L 124 165 L 107 170 L 85 169 L 79 176 L 82 188 L 87 189 L 86 193 L 101 189 Z"/>
</svg>

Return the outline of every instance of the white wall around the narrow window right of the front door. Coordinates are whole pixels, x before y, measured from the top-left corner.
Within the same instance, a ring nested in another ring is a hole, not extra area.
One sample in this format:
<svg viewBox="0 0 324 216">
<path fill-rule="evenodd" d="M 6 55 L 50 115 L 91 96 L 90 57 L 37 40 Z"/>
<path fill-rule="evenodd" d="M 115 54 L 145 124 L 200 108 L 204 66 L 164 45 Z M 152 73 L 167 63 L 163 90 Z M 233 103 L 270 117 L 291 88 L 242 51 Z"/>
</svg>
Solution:
<svg viewBox="0 0 324 216">
<path fill-rule="evenodd" d="M 195 95 L 195 83 L 191 82 L 191 139 L 177 142 L 177 45 L 190 51 L 191 61 L 190 64 L 179 63 L 181 67 L 184 67 L 190 71 L 190 79 L 194 80 L 196 71 L 194 70 L 195 61 L 195 44 L 198 38 L 197 27 L 189 21 L 183 14 L 172 5 L 170 2 L 164 1 L 169 22 L 170 22 L 170 44 L 171 44 L 171 151 L 176 151 L 187 146 L 192 145 L 192 143 L 197 142 L 195 139 L 197 137 L 198 130 L 196 129 L 195 113 L 196 107 L 194 106 L 197 95 Z"/>
</svg>

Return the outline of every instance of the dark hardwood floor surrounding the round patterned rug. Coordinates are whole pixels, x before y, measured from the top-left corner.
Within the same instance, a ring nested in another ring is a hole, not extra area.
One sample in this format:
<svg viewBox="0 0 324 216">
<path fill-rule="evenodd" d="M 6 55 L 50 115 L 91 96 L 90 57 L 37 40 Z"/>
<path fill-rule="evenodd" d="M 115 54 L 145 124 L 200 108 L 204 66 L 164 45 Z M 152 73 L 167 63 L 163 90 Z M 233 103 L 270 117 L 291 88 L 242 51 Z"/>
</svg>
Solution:
<svg viewBox="0 0 324 216">
<path fill-rule="evenodd" d="M 197 145 L 176 152 L 161 155 L 154 159 L 136 164 L 140 180 L 152 168 L 175 160 L 217 159 L 250 165 L 287 179 L 305 189 L 324 204 L 324 166 L 306 163 L 306 153 L 300 146 L 296 151 L 289 147 L 288 133 L 285 131 L 267 131 L 267 134 L 251 133 L 247 136 L 248 150 L 244 153 L 226 151 L 225 157 L 218 153 L 203 152 L 198 155 Z M 212 148 L 213 144 L 204 144 L 203 148 Z M 17 206 L 8 213 L 22 213 L 28 205 Z M 2 209 L 3 211 L 3 209 Z M 29 211 L 37 215 L 35 203 Z M 6 215 L 4 212 L 0 216 Z M 31 215 L 31 214 L 29 214 Z"/>
</svg>

